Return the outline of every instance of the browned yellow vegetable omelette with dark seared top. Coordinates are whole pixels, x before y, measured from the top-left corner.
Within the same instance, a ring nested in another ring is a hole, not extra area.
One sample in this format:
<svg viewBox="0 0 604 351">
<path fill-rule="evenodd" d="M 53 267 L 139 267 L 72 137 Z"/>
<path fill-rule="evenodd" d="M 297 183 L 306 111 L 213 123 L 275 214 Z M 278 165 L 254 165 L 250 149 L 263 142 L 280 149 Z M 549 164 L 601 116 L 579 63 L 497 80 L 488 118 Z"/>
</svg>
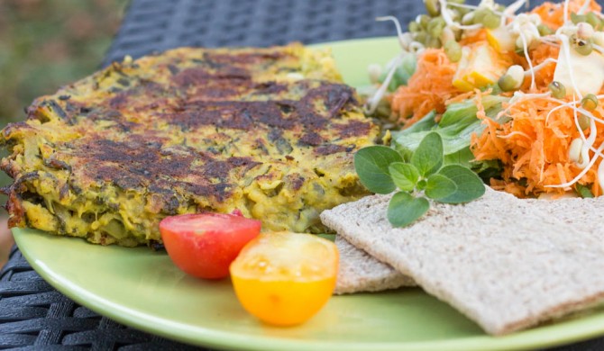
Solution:
<svg viewBox="0 0 604 351">
<path fill-rule="evenodd" d="M 365 194 L 352 152 L 378 134 L 333 59 L 300 45 L 127 59 L 27 114 L 2 131 L 10 226 L 124 246 L 198 211 L 323 231 L 320 211 Z"/>
</svg>

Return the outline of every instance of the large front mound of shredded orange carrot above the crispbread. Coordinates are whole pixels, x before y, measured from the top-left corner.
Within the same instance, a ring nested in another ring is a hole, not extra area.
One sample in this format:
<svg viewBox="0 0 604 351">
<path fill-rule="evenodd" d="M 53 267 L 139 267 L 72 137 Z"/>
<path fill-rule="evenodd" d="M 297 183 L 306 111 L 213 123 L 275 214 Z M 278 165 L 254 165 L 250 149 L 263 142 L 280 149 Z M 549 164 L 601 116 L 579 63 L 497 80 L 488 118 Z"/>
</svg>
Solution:
<svg viewBox="0 0 604 351">
<path fill-rule="evenodd" d="M 471 150 L 477 160 L 499 159 L 504 165 L 502 174 L 506 190 L 512 193 L 563 193 L 569 190 L 548 185 L 566 183 L 582 171 L 569 157 L 573 139 L 580 138 L 572 109 L 563 107 L 547 118 L 557 103 L 546 98 L 530 98 L 504 106 L 510 121 L 499 123 L 484 119 L 486 130 L 480 136 L 472 136 Z M 601 111 L 594 115 L 602 118 Z M 597 130 L 604 124 L 596 122 Z M 590 130 L 585 130 L 589 137 Z M 604 142 L 599 133 L 594 143 Z M 595 157 L 590 152 L 590 157 Z M 590 184 L 592 193 L 601 193 L 598 184 L 597 160 L 590 171 L 581 176 L 579 184 Z M 522 182 L 520 182 L 522 180 Z"/>
</svg>

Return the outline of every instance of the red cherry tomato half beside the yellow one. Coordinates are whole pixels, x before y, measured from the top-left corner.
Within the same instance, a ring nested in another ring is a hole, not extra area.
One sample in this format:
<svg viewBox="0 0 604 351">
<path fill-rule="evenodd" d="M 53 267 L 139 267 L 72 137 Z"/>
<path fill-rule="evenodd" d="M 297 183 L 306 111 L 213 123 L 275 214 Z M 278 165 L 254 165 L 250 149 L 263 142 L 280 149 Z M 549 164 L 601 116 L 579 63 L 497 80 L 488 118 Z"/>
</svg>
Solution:
<svg viewBox="0 0 604 351">
<path fill-rule="evenodd" d="M 220 279 L 252 238 L 261 221 L 235 214 L 198 213 L 166 217 L 160 221 L 161 239 L 180 269 L 199 278 Z"/>
</svg>

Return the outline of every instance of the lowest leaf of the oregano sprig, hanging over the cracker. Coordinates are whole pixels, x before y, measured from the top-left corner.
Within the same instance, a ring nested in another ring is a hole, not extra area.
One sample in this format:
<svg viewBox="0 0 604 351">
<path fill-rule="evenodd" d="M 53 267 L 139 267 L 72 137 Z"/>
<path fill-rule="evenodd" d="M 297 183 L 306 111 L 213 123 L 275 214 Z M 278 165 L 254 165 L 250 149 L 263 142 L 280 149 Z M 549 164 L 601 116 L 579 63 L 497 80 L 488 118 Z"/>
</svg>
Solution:
<svg viewBox="0 0 604 351">
<path fill-rule="evenodd" d="M 424 215 L 429 208 L 430 202 L 424 197 L 395 193 L 388 205 L 388 220 L 394 227 L 404 227 Z"/>
</svg>

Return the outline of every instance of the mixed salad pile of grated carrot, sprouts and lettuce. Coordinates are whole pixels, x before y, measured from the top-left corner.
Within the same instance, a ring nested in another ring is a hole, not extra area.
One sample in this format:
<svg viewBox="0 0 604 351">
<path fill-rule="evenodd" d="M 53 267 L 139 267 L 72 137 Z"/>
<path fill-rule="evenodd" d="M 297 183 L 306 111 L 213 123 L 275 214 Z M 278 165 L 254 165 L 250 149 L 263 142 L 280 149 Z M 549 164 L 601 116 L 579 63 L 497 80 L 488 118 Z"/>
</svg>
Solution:
<svg viewBox="0 0 604 351">
<path fill-rule="evenodd" d="M 400 55 L 372 65 L 368 110 L 400 130 L 412 154 L 441 136 L 444 164 L 470 167 L 519 197 L 602 194 L 604 15 L 599 4 L 545 3 L 521 13 L 483 0 L 426 0 L 427 14 L 397 25 Z"/>
</svg>

